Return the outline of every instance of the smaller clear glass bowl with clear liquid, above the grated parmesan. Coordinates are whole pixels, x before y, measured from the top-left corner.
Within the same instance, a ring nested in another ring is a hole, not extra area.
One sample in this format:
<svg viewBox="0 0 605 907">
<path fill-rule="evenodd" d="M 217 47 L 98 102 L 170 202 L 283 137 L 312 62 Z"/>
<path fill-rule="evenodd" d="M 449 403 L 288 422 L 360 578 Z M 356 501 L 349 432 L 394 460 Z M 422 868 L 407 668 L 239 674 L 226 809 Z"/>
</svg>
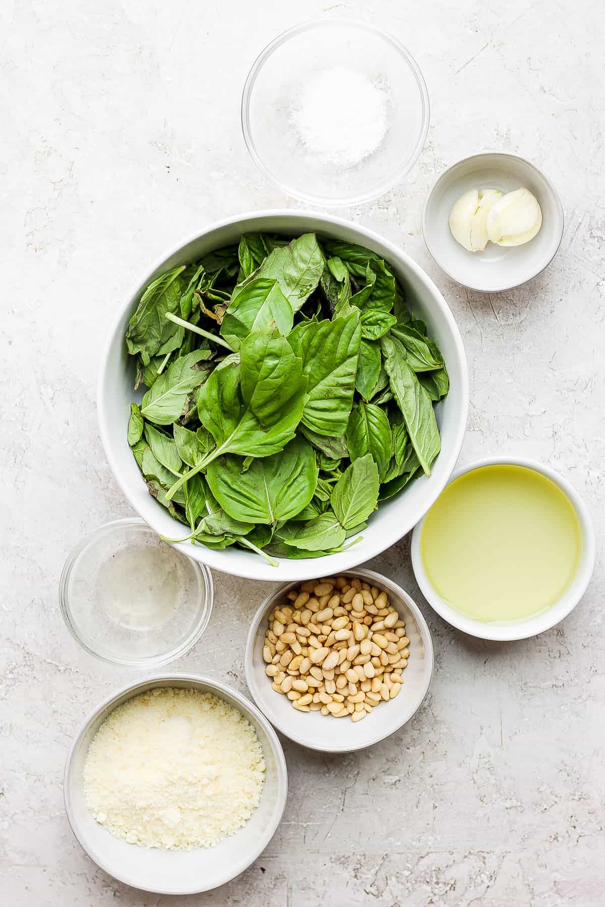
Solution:
<svg viewBox="0 0 605 907">
<path fill-rule="evenodd" d="M 210 571 L 138 517 L 108 522 L 65 561 L 59 603 L 87 652 L 113 665 L 158 668 L 200 639 L 212 613 Z"/>
</svg>

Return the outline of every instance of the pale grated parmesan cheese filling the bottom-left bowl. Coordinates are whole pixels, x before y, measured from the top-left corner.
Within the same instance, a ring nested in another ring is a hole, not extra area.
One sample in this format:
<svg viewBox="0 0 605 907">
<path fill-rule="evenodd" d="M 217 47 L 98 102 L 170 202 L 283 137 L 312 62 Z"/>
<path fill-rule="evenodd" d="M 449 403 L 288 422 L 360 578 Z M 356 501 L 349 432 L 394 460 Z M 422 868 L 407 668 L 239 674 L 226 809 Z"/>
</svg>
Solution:
<svg viewBox="0 0 605 907">
<path fill-rule="evenodd" d="M 97 822 L 130 844 L 210 847 L 259 805 L 265 760 L 249 720 L 195 689 L 157 688 L 115 708 L 83 770 Z"/>
</svg>

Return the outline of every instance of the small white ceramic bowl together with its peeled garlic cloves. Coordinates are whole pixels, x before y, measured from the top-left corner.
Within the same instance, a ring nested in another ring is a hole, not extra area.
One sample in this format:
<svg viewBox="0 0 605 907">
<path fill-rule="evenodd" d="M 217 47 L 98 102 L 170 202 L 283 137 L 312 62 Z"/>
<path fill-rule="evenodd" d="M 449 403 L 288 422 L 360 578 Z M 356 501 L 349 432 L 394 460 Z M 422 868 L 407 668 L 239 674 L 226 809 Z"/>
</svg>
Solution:
<svg viewBox="0 0 605 907">
<path fill-rule="evenodd" d="M 489 152 L 442 173 L 424 202 L 422 227 L 426 248 L 450 278 L 496 293 L 550 264 L 561 245 L 563 209 L 539 167 Z"/>
</svg>

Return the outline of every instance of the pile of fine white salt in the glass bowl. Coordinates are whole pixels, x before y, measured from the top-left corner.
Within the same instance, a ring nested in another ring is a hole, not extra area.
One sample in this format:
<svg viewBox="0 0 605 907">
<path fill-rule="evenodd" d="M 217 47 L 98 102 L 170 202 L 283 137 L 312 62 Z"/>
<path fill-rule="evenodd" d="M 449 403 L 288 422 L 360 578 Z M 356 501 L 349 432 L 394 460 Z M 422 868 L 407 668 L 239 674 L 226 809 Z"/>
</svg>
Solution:
<svg viewBox="0 0 605 907">
<path fill-rule="evenodd" d="M 354 167 L 380 148 L 388 132 L 388 92 L 363 73 L 334 66 L 318 73 L 291 104 L 307 151 L 324 163 Z"/>
</svg>

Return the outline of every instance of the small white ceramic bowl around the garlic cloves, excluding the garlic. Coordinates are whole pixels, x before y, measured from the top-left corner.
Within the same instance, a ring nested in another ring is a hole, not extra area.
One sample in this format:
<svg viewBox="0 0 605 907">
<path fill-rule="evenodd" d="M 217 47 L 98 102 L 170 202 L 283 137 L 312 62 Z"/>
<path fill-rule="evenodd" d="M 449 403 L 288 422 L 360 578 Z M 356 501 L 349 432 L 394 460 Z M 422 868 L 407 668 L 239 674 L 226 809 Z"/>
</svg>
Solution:
<svg viewBox="0 0 605 907">
<path fill-rule="evenodd" d="M 488 242 L 484 252 L 469 252 L 450 231 L 450 211 L 463 192 L 529 189 L 542 208 L 542 228 L 523 246 L 504 248 Z M 426 248 L 448 277 L 464 287 L 496 293 L 519 287 L 551 263 L 563 236 L 563 207 L 546 174 L 516 154 L 488 152 L 458 161 L 441 174 L 429 191 L 422 213 Z"/>
</svg>

